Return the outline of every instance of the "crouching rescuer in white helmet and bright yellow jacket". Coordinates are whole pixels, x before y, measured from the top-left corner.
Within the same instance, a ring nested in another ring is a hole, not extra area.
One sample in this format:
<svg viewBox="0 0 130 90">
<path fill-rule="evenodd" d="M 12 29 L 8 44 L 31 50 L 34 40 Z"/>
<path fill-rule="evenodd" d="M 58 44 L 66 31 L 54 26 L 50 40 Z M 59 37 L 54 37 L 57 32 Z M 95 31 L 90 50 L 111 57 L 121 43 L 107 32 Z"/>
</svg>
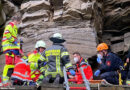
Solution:
<svg viewBox="0 0 130 90">
<path fill-rule="evenodd" d="M 40 59 L 40 57 L 42 57 L 41 54 L 43 53 L 45 48 L 46 48 L 45 42 L 42 40 L 39 40 L 36 42 L 36 45 L 35 45 L 36 50 L 34 50 L 33 53 L 31 53 L 28 56 L 28 59 L 29 59 L 28 63 L 30 64 L 30 69 L 31 69 L 31 78 L 34 82 L 37 82 L 37 84 L 40 84 L 42 82 L 42 79 L 44 78 L 41 72 L 43 72 L 45 68 L 42 67 L 39 69 L 38 60 Z"/>
</svg>

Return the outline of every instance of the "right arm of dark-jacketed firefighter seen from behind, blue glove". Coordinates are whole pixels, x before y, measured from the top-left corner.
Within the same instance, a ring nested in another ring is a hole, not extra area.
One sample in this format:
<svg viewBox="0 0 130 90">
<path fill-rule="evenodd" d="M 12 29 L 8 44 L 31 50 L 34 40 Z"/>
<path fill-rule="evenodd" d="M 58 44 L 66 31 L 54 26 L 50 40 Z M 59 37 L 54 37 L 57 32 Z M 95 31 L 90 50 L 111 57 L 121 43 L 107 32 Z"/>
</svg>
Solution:
<svg viewBox="0 0 130 90">
<path fill-rule="evenodd" d="M 64 47 L 61 49 L 61 60 L 63 62 L 63 65 L 70 72 L 70 74 L 75 76 L 75 71 L 72 67 L 72 64 L 70 63 L 69 53 L 68 53 L 67 49 Z"/>
</svg>

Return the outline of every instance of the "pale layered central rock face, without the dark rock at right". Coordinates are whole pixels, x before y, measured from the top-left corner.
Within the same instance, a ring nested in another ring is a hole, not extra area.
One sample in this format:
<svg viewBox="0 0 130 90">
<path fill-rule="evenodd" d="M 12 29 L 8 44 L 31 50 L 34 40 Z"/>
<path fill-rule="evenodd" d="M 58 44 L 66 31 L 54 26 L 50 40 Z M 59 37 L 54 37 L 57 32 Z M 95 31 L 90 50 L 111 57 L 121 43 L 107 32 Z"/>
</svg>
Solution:
<svg viewBox="0 0 130 90">
<path fill-rule="evenodd" d="M 47 47 L 50 46 L 48 38 L 53 33 L 59 32 L 66 39 L 64 44 L 71 55 L 75 51 L 79 51 L 85 58 L 95 55 L 97 31 L 102 30 L 101 15 L 95 10 L 98 7 L 97 3 L 100 2 L 41 0 L 22 4 L 21 10 L 26 12 L 23 14 L 20 30 L 21 35 L 26 37 L 25 46 L 28 46 L 29 41 L 33 39 L 32 45 L 25 47 L 26 52 L 30 51 L 39 39 L 44 40 Z M 100 20 L 95 18 L 96 15 Z"/>
</svg>

